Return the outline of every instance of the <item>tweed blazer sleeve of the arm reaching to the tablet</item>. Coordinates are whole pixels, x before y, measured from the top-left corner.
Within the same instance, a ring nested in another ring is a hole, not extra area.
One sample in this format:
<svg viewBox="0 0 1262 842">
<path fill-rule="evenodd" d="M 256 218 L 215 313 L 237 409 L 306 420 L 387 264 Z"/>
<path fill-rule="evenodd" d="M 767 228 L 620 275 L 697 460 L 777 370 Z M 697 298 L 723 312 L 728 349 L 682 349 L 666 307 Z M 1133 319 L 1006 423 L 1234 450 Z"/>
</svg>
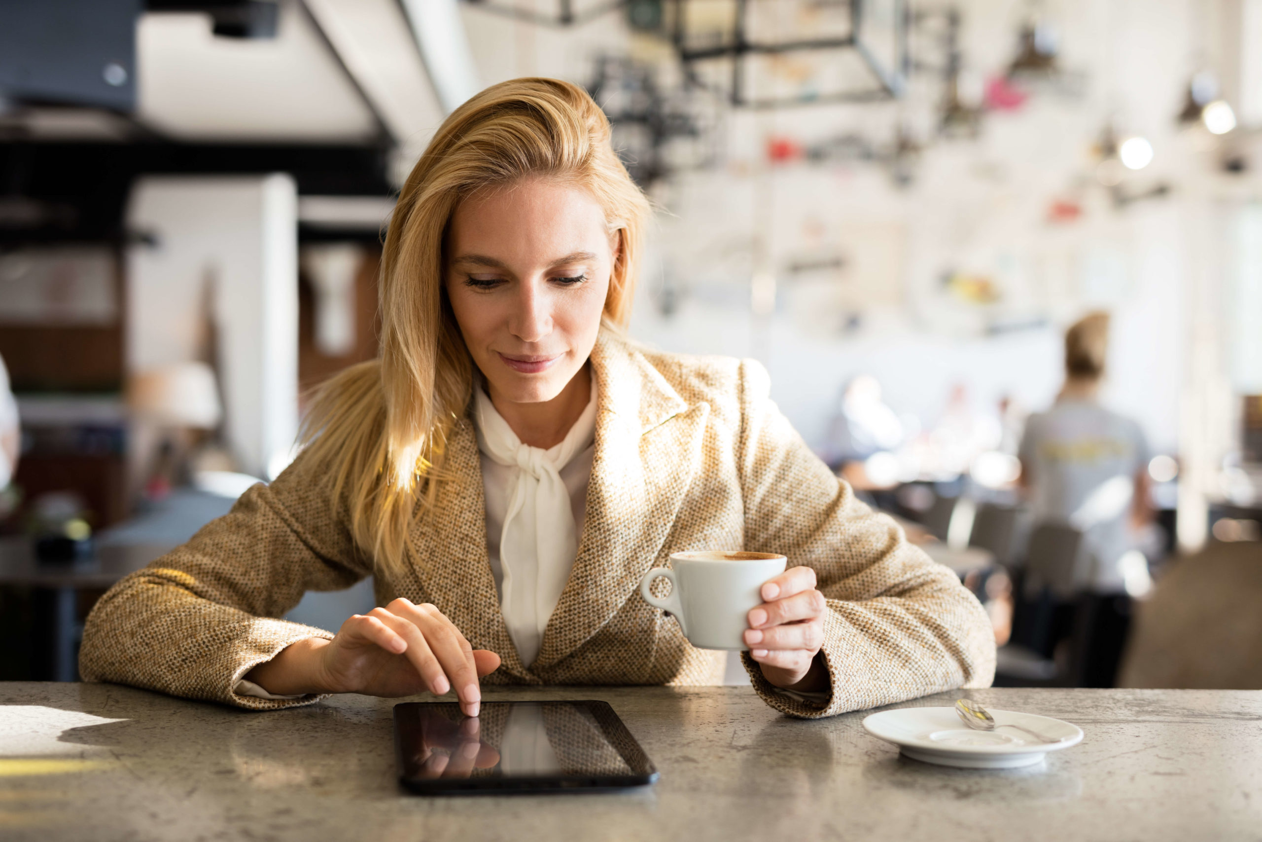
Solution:
<svg viewBox="0 0 1262 842">
<path fill-rule="evenodd" d="M 255 665 L 323 629 L 281 620 L 307 591 L 350 587 L 371 569 L 303 454 L 192 540 L 111 587 L 83 626 L 80 673 L 251 709 L 317 701 L 233 692 Z"/>
</svg>

